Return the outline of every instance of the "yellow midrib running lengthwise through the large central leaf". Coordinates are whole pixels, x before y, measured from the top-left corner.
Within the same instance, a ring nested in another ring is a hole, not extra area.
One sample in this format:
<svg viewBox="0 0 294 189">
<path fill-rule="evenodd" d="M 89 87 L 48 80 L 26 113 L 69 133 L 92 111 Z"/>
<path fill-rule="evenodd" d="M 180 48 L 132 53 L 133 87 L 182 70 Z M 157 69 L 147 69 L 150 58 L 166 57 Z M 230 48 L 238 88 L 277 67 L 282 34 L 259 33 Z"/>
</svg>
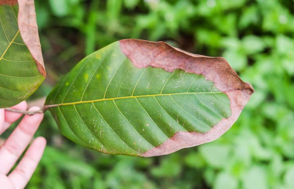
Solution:
<svg viewBox="0 0 294 189">
<path fill-rule="evenodd" d="M 92 102 L 101 102 L 101 101 L 128 99 L 128 98 L 139 98 L 139 97 L 170 96 L 170 95 L 176 95 L 176 94 L 208 94 L 208 93 L 216 94 L 216 93 L 222 93 L 222 92 L 182 92 L 182 93 L 172 93 L 172 94 L 148 94 L 148 95 L 139 95 L 139 96 L 103 98 L 103 99 L 97 99 L 97 100 L 87 100 L 87 101 L 69 102 L 69 103 L 61 103 L 61 104 L 51 104 L 51 105 L 46 105 L 46 107 L 66 106 L 66 105 L 74 105 L 74 104 L 83 104 L 83 103 L 92 103 Z"/>
</svg>

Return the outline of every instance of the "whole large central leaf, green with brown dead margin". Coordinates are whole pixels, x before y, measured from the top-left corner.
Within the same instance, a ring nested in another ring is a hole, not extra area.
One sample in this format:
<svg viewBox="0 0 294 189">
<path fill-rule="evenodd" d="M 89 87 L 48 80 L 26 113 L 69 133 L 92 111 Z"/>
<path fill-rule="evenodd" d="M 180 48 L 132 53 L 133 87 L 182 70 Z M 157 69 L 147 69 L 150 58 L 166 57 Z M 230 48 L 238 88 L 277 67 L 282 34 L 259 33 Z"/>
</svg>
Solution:
<svg viewBox="0 0 294 189">
<path fill-rule="evenodd" d="M 223 58 L 126 39 L 78 63 L 45 108 L 80 145 L 149 157 L 215 140 L 252 93 Z"/>
</svg>

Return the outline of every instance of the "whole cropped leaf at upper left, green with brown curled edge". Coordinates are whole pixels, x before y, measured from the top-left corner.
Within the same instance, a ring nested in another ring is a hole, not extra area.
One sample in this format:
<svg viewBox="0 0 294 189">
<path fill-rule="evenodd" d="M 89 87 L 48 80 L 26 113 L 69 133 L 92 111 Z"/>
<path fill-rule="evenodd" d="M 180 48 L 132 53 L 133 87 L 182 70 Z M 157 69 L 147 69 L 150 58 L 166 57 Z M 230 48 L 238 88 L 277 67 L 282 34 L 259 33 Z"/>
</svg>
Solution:
<svg viewBox="0 0 294 189">
<path fill-rule="evenodd" d="M 34 0 L 0 0 L 0 108 L 27 99 L 45 77 Z"/>
</svg>

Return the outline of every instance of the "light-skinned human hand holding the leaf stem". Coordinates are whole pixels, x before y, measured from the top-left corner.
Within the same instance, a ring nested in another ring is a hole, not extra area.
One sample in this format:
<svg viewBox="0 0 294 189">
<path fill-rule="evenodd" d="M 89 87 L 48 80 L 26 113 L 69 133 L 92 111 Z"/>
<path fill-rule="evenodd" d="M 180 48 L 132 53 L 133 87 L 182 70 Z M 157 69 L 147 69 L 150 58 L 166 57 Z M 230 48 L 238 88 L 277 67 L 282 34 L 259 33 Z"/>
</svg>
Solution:
<svg viewBox="0 0 294 189">
<path fill-rule="evenodd" d="M 12 108 L 26 110 L 27 104 L 24 101 Z M 38 109 L 39 107 L 32 107 L 30 111 Z M 20 113 L 0 109 L 0 135 L 20 117 Z M 0 188 L 20 189 L 29 182 L 46 146 L 46 139 L 43 137 L 38 137 L 32 142 L 16 168 L 8 176 L 7 174 L 29 145 L 43 117 L 44 114 L 25 115 L 9 138 L 0 146 Z"/>
</svg>

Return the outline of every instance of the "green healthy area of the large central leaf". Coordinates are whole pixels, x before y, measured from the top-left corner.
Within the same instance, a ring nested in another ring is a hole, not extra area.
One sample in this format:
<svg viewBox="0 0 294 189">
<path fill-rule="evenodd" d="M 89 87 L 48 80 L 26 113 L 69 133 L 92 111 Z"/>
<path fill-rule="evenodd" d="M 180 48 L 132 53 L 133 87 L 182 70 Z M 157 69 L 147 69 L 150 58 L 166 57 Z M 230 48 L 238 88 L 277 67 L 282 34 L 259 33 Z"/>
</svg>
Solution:
<svg viewBox="0 0 294 189">
<path fill-rule="evenodd" d="M 206 133 L 231 115 L 230 100 L 203 75 L 137 68 L 118 42 L 90 54 L 49 94 L 61 132 L 109 154 L 141 156 L 179 131 Z"/>
</svg>

